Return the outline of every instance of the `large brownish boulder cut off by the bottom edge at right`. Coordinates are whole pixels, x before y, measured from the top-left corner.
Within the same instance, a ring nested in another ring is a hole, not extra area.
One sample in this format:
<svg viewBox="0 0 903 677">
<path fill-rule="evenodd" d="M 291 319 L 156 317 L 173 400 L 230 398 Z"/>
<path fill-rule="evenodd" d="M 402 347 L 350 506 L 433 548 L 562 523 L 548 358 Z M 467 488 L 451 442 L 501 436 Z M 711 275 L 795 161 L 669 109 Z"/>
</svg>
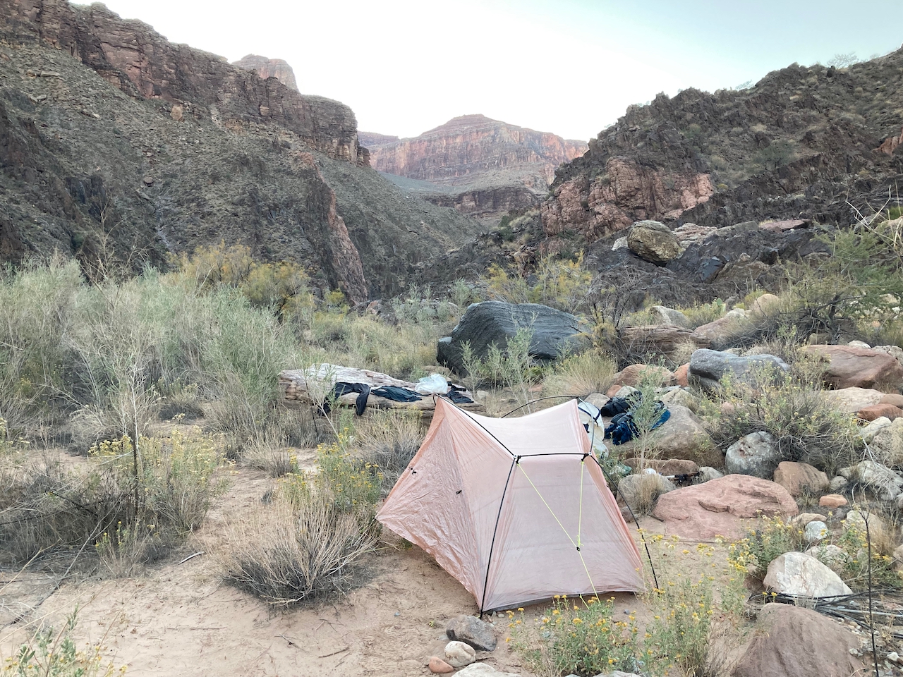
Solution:
<svg viewBox="0 0 903 677">
<path fill-rule="evenodd" d="M 867 677 L 859 637 L 817 611 L 767 604 L 758 625 L 731 677 Z"/>
</svg>

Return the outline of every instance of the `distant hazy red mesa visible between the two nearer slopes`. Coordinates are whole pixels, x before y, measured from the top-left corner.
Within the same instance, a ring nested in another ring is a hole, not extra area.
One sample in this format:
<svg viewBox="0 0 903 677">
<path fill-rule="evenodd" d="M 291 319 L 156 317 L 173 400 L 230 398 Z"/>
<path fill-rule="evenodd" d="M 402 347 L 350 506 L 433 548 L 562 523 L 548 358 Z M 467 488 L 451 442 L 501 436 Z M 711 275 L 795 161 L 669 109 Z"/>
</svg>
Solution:
<svg viewBox="0 0 903 677">
<path fill-rule="evenodd" d="M 537 206 L 555 169 L 586 150 L 579 141 L 479 115 L 410 139 L 362 132 L 360 143 L 379 172 L 425 182 L 399 181 L 406 190 L 495 222 L 510 209 Z"/>
</svg>

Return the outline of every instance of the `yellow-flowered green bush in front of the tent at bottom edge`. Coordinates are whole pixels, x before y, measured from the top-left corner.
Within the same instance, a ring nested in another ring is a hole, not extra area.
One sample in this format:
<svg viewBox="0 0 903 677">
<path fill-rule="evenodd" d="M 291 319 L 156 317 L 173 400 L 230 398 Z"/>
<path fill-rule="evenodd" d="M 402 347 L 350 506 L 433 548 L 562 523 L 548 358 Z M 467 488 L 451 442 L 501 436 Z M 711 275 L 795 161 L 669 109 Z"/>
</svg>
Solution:
<svg viewBox="0 0 903 677">
<path fill-rule="evenodd" d="M 508 611 L 513 648 L 530 669 L 543 674 L 590 677 L 612 670 L 638 671 L 638 625 L 633 614 L 614 617 L 614 598 L 555 595 L 540 622 L 530 624 L 524 609 Z"/>
</svg>

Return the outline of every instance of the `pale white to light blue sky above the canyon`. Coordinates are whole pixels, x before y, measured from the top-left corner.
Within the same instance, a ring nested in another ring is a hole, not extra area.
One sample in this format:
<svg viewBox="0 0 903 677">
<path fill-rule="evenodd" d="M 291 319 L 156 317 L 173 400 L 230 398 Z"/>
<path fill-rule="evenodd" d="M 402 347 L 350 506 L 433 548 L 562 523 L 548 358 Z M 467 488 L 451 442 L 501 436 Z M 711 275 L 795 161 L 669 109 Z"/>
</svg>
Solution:
<svg viewBox="0 0 903 677">
<path fill-rule="evenodd" d="M 756 82 L 903 43 L 899 0 L 106 0 L 172 42 L 287 60 L 358 129 L 415 136 L 454 116 L 589 140 L 659 92 Z"/>
</svg>

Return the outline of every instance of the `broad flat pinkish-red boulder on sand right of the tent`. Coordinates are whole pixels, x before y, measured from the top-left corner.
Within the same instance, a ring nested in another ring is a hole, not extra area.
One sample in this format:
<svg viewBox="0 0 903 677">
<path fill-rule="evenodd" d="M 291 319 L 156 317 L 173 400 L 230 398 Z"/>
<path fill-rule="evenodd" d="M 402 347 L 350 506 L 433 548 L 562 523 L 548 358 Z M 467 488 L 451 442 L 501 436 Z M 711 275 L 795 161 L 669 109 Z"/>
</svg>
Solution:
<svg viewBox="0 0 903 677">
<path fill-rule="evenodd" d="M 787 489 L 768 479 L 726 475 L 658 498 L 653 515 L 667 533 L 695 540 L 740 538 L 757 515 L 796 515 L 799 508 Z"/>
</svg>

